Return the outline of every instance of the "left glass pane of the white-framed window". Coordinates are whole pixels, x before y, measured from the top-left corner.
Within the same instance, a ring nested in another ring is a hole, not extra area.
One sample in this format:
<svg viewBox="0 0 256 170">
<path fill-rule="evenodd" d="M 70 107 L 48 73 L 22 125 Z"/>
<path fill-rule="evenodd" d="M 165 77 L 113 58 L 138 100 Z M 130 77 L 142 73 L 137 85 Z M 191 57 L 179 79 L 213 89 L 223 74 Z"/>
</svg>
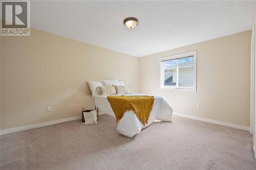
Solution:
<svg viewBox="0 0 256 170">
<path fill-rule="evenodd" d="M 176 86 L 177 65 L 176 60 L 163 61 L 164 86 Z"/>
</svg>

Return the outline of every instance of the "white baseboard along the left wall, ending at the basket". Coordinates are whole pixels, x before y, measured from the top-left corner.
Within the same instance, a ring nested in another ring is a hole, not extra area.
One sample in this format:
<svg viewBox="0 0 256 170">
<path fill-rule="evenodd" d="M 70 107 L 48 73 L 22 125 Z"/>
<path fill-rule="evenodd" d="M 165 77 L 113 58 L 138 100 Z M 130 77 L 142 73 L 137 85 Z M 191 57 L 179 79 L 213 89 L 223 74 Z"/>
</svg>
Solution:
<svg viewBox="0 0 256 170">
<path fill-rule="evenodd" d="M 5 134 L 9 134 L 9 133 L 19 132 L 19 131 L 24 131 L 24 130 L 34 129 L 34 128 L 45 127 L 45 126 L 59 124 L 59 123 L 63 123 L 63 122 L 69 122 L 72 120 L 79 120 L 81 118 L 82 118 L 82 116 L 75 116 L 75 117 L 63 118 L 63 119 L 59 119 L 59 120 L 52 120 L 50 122 L 44 122 L 44 123 L 39 123 L 39 124 L 4 129 L 4 130 L 0 131 L 0 135 L 5 135 Z"/>
</svg>

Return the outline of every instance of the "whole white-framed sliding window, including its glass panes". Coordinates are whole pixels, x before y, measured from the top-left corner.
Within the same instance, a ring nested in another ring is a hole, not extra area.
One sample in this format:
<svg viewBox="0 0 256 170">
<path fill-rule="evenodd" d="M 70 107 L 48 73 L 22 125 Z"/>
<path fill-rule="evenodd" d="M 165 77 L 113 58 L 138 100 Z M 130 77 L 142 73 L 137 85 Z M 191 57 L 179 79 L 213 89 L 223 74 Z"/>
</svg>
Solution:
<svg viewBox="0 0 256 170">
<path fill-rule="evenodd" d="M 160 58 L 161 88 L 196 91 L 197 52 Z"/>
</svg>

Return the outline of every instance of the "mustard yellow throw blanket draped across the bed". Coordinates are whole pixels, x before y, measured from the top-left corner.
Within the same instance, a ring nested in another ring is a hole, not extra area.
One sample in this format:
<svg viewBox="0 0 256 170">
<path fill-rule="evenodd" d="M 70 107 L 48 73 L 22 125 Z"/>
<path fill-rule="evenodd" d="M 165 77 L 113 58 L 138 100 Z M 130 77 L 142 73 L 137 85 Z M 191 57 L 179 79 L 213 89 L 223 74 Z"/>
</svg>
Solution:
<svg viewBox="0 0 256 170">
<path fill-rule="evenodd" d="M 154 96 L 145 95 L 109 95 L 106 97 L 116 116 L 116 122 L 122 117 L 124 112 L 133 111 L 140 122 L 145 126 L 154 105 Z"/>
</svg>

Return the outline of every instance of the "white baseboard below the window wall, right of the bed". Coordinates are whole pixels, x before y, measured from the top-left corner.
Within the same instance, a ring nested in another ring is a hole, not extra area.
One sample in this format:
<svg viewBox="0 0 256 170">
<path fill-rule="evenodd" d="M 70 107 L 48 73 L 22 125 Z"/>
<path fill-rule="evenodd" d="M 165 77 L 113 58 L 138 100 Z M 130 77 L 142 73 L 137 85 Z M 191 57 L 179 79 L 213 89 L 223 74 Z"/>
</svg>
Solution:
<svg viewBox="0 0 256 170">
<path fill-rule="evenodd" d="M 193 115 L 188 115 L 188 114 L 182 114 L 182 113 L 176 113 L 174 112 L 173 115 L 175 116 L 180 116 L 180 117 L 186 117 L 194 120 L 200 120 L 202 122 L 207 122 L 211 124 L 216 124 L 216 125 L 222 125 L 230 128 L 236 128 L 236 129 L 241 129 L 245 131 L 250 131 L 250 127 L 247 126 L 242 126 L 242 125 L 237 125 L 237 124 L 231 124 L 227 122 L 221 122 L 219 120 L 214 120 L 214 119 L 209 119 L 209 118 L 204 118 L 204 117 L 199 117 L 199 116 L 193 116 Z"/>
</svg>

